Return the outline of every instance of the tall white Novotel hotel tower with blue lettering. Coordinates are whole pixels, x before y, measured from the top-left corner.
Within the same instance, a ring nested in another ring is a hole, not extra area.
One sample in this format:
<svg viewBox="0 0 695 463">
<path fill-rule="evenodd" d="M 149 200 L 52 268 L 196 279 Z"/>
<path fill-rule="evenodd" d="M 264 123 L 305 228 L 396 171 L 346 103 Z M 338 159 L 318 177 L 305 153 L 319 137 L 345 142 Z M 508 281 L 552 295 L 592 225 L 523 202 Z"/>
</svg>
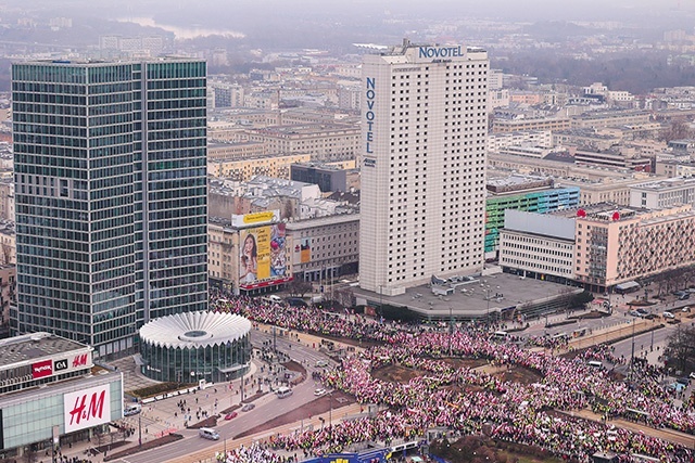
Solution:
<svg viewBox="0 0 695 463">
<path fill-rule="evenodd" d="M 480 271 L 488 53 L 404 40 L 362 72 L 361 287 Z"/>
</svg>

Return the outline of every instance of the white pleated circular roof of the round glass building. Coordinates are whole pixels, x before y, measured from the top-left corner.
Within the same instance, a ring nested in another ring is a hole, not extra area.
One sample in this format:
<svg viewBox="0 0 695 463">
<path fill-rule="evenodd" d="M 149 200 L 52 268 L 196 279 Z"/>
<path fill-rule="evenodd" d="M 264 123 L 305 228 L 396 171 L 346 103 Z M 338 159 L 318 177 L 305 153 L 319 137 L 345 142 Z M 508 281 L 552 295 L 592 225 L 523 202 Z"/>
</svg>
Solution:
<svg viewBox="0 0 695 463">
<path fill-rule="evenodd" d="M 184 312 L 152 320 L 140 329 L 143 343 L 199 348 L 233 343 L 248 335 L 251 322 L 235 313 Z"/>
</svg>

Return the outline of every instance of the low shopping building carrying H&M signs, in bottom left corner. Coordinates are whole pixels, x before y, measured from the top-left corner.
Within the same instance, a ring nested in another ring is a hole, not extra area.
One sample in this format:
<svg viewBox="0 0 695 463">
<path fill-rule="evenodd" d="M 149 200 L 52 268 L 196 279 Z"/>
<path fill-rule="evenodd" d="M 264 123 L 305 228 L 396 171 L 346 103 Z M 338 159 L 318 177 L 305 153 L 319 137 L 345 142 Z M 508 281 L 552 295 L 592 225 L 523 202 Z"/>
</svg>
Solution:
<svg viewBox="0 0 695 463">
<path fill-rule="evenodd" d="M 27 451 L 50 452 L 54 438 L 56 447 L 67 448 L 123 417 L 123 374 L 94 374 L 92 350 L 49 333 L 0 340 L 4 458 L 29 461 Z"/>
</svg>

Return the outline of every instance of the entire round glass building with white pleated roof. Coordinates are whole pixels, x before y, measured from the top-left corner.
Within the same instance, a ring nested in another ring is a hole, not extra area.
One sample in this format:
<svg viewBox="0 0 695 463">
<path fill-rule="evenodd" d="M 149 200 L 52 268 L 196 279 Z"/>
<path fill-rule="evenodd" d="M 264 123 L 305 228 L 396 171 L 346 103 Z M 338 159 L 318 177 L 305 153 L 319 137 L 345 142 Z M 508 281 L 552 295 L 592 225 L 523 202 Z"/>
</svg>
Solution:
<svg viewBox="0 0 695 463">
<path fill-rule="evenodd" d="M 251 322 L 233 313 L 184 312 L 140 329 L 142 373 L 156 381 L 218 383 L 249 369 Z"/>
</svg>

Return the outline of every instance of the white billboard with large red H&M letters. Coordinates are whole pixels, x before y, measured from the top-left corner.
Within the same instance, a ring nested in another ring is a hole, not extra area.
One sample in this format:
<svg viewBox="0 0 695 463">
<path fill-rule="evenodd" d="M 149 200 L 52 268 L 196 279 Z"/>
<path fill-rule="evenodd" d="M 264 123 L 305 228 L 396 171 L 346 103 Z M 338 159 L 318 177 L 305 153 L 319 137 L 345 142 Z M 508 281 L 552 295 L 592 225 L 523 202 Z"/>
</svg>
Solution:
<svg viewBox="0 0 695 463">
<path fill-rule="evenodd" d="M 65 434 L 111 421 L 110 385 L 63 395 Z"/>
</svg>

